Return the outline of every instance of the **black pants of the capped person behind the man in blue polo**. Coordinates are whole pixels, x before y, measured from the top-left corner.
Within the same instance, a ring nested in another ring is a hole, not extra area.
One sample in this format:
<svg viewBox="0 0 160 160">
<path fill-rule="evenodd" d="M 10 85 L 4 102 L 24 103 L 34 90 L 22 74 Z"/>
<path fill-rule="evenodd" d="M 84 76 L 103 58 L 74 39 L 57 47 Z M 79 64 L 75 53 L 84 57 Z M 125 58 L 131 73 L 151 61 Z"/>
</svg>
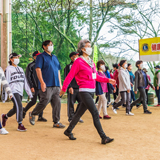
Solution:
<svg viewBox="0 0 160 160">
<path fill-rule="evenodd" d="M 32 106 L 34 106 L 37 102 L 37 97 L 40 99 L 39 97 L 39 90 L 35 89 L 35 93 L 33 95 L 33 98 L 31 99 L 31 101 L 26 105 L 25 108 L 23 108 L 23 111 L 27 112 Z M 39 118 L 41 118 L 43 116 L 43 111 L 39 114 Z"/>
</svg>

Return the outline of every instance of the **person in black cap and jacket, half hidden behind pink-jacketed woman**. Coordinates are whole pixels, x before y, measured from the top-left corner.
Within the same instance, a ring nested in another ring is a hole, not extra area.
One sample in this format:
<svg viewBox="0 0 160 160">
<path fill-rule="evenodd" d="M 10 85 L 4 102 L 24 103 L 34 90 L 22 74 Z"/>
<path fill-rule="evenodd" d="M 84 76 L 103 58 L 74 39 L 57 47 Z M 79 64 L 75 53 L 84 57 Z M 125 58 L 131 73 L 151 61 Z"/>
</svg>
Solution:
<svg viewBox="0 0 160 160">
<path fill-rule="evenodd" d="M 69 57 L 71 59 L 71 63 L 68 64 L 65 69 L 64 69 L 64 77 L 66 78 L 72 65 L 73 62 L 78 58 L 78 53 L 77 52 L 72 52 L 70 53 Z M 81 99 L 79 96 L 79 86 L 75 80 L 75 78 L 72 80 L 72 82 L 69 84 L 68 89 L 67 89 L 67 108 L 68 108 L 68 121 L 71 122 L 72 118 L 74 117 L 74 114 L 76 112 L 74 112 L 74 103 L 77 101 L 78 105 L 77 105 L 77 109 L 78 110 L 80 103 L 81 103 Z M 80 119 L 79 120 L 80 123 L 83 123 L 83 120 Z"/>
</svg>

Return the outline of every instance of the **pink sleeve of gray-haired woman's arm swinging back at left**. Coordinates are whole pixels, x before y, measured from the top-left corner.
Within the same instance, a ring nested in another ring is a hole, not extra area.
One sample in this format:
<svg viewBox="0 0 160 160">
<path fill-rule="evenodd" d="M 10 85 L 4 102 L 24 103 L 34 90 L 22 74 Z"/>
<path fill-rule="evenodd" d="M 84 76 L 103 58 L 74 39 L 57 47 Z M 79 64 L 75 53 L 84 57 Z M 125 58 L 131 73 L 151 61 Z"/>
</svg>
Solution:
<svg viewBox="0 0 160 160">
<path fill-rule="evenodd" d="M 70 72 L 68 73 L 67 77 L 65 78 L 63 82 L 62 91 L 66 92 L 68 85 L 71 83 L 72 79 L 75 77 L 75 75 L 78 72 L 79 72 L 79 64 L 73 63 Z"/>
</svg>

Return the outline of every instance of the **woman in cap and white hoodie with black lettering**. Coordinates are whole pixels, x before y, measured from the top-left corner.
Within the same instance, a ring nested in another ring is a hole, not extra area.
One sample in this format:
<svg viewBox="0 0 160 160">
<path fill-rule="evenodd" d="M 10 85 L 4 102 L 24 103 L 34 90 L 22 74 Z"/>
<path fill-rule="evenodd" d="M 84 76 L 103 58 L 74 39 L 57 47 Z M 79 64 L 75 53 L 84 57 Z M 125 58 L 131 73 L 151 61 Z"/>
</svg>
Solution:
<svg viewBox="0 0 160 160">
<path fill-rule="evenodd" d="M 32 92 L 30 87 L 27 83 L 24 71 L 21 67 L 18 66 L 19 64 L 19 57 L 17 53 L 11 53 L 9 55 L 9 66 L 5 70 L 6 79 L 9 83 L 9 87 L 13 93 L 13 98 L 11 99 L 14 103 L 13 108 L 7 113 L 2 114 L 2 126 L 6 125 L 6 121 L 8 117 L 13 116 L 16 113 L 16 119 L 18 122 L 18 131 L 26 131 L 27 129 L 23 126 L 23 106 L 22 106 L 22 97 L 23 97 L 23 90 L 27 92 L 28 96 L 32 98 Z M 2 97 L 3 101 L 7 100 L 7 94 L 5 92 L 5 96 Z"/>
</svg>

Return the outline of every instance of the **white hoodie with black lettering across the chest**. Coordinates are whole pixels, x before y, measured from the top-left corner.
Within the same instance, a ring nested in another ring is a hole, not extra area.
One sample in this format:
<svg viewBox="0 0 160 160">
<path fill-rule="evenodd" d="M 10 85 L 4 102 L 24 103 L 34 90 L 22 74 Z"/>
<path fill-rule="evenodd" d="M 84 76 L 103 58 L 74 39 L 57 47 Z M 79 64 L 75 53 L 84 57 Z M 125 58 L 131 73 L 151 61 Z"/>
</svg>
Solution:
<svg viewBox="0 0 160 160">
<path fill-rule="evenodd" d="M 12 93 L 18 93 L 23 96 L 23 90 L 27 92 L 28 96 L 32 98 L 32 92 L 27 83 L 24 71 L 21 67 L 8 66 L 5 70 L 6 80 L 9 83 Z M 7 100 L 7 94 L 5 93 L 5 101 Z"/>
</svg>

